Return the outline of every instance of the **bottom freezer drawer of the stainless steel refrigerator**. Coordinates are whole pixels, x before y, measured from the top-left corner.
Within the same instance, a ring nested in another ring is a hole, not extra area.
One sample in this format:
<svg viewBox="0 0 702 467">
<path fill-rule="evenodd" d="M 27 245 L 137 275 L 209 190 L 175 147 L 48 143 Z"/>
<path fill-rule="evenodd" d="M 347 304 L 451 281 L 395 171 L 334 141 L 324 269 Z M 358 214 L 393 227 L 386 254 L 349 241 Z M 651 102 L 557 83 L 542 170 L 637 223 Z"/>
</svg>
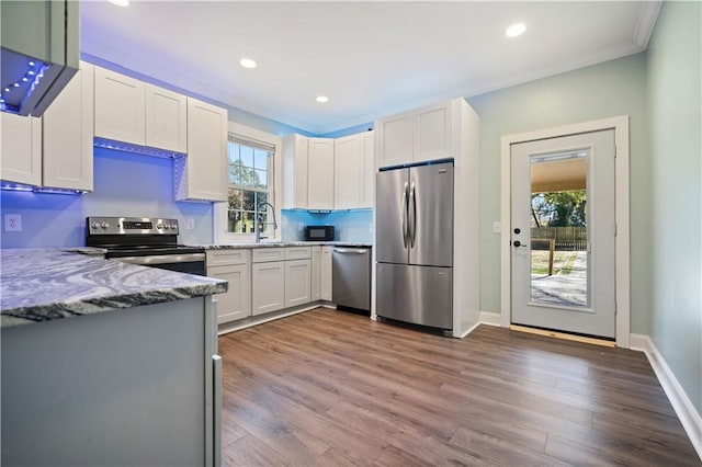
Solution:
<svg viewBox="0 0 702 467">
<path fill-rule="evenodd" d="M 377 316 L 453 329 L 453 269 L 377 264 Z"/>
</svg>

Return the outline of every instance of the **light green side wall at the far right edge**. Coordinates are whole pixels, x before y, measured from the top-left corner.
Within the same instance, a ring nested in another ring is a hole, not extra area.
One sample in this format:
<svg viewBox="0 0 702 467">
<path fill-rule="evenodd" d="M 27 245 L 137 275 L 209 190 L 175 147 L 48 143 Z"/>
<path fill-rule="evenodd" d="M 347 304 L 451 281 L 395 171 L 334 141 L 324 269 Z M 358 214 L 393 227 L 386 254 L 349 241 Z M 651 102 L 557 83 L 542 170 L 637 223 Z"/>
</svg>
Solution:
<svg viewBox="0 0 702 467">
<path fill-rule="evenodd" d="M 652 339 L 702 413 L 702 8 L 665 2 L 647 53 Z"/>
</svg>

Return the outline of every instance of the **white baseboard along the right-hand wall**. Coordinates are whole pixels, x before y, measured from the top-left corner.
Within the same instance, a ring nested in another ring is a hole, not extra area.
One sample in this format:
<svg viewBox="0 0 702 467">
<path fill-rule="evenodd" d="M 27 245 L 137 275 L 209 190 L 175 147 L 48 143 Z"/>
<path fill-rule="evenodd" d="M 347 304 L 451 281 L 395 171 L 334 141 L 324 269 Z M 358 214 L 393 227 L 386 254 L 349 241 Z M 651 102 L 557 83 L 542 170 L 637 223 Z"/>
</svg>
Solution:
<svg viewBox="0 0 702 467">
<path fill-rule="evenodd" d="M 665 358 L 648 335 L 631 334 L 631 350 L 644 352 L 650 363 L 654 373 L 663 386 L 663 390 L 668 396 L 670 405 L 676 411 L 682 428 L 692 442 L 692 446 L 702 459 L 702 417 L 695 410 L 692 401 L 676 378 Z"/>
</svg>

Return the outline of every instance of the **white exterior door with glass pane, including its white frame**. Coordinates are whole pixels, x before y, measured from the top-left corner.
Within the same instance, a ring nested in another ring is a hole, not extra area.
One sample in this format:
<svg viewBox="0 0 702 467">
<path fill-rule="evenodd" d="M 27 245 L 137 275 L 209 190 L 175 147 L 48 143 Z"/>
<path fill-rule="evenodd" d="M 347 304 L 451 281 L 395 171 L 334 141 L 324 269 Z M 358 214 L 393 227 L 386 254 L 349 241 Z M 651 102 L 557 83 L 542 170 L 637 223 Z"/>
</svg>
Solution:
<svg viewBox="0 0 702 467">
<path fill-rule="evenodd" d="M 500 326 L 630 346 L 629 117 L 501 141 Z"/>
</svg>

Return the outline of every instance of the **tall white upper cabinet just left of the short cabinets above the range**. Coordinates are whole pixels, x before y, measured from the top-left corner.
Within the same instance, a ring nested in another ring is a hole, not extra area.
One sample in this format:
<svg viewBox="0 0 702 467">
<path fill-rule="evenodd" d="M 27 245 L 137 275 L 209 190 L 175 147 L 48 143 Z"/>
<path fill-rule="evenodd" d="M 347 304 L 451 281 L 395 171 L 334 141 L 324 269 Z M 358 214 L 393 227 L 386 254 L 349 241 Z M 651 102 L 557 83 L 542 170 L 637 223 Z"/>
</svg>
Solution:
<svg viewBox="0 0 702 467">
<path fill-rule="evenodd" d="M 81 62 L 43 115 L 43 185 L 93 189 L 93 66 Z"/>
</svg>

